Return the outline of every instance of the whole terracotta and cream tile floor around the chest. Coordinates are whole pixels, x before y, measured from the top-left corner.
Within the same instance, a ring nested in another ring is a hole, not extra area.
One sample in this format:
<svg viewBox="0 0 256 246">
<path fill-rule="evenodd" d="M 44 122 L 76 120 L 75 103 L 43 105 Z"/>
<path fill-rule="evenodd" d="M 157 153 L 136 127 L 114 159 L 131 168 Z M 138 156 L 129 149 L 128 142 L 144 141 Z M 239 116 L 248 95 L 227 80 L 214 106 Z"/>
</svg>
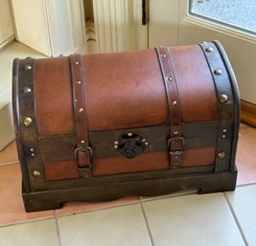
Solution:
<svg viewBox="0 0 256 246">
<path fill-rule="evenodd" d="M 238 187 L 24 212 L 14 143 L 0 152 L 0 246 L 256 246 L 256 128 L 241 125 Z"/>
</svg>

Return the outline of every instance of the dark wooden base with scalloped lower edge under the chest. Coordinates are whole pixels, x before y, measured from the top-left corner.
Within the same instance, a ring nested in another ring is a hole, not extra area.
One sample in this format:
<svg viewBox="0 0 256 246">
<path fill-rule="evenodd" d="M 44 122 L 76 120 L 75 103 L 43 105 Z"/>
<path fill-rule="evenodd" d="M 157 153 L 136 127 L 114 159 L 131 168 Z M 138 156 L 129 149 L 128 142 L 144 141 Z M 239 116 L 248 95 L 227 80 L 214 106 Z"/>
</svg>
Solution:
<svg viewBox="0 0 256 246">
<path fill-rule="evenodd" d="M 236 180 L 237 170 L 187 174 L 130 182 L 102 183 L 77 189 L 23 192 L 23 200 L 26 212 L 35 212 L 59 209 L 68 201 L 109 201 L 127 195 L 154 196 L 186 189 L 195 189 L 198 193 L 235 190 Z"/>
</svg>

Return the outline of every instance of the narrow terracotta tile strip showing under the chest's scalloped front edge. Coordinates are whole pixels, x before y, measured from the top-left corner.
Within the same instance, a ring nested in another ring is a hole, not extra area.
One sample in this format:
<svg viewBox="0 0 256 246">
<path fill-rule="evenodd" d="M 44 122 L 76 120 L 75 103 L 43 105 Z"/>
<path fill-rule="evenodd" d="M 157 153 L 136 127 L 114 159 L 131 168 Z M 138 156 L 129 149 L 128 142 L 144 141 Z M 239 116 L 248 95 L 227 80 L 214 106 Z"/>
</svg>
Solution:
<svg viewBox="0 0 256 246">
<path fill-rule="evenodd" d="M 105 208 L 116 207 L 125 204 L 139 202 L 137 196 L 127 196 L 122 199 L 109 202 L 69 202 L 62 209 L 56 210 L 56 215 L 76 214 L 81 212 L 91 212 Z"/>
</svg>

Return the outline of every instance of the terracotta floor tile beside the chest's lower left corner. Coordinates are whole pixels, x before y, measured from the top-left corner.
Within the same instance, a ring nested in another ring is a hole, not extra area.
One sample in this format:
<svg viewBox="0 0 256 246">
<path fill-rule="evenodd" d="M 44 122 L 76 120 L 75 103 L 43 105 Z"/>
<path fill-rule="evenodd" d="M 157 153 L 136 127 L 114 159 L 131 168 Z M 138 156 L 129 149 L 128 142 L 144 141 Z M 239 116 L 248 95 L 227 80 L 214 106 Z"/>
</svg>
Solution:
<svg viewBox="0 0 256 246">
<path fill-rule="evenodd" d="M 0 226 L 54 216 L 53 211 L 25 212 L 18 164 L 0 167 L 0 197 Z"/>
</svg>

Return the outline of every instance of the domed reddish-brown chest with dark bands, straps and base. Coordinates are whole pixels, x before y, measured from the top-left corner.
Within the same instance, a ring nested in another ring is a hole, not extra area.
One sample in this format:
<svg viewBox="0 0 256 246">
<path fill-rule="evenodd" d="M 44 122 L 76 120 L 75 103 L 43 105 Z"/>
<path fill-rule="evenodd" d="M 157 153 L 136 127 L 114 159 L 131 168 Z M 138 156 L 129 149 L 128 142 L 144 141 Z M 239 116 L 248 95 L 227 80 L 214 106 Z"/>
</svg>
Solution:
<svg viewBox="0 0 256 246">
<path fill-rule="evenodd" d="M 236 186 L 239 94 L 218 41 L 16 58 L 13 118 L 27 212 Z"/>
</svg>

